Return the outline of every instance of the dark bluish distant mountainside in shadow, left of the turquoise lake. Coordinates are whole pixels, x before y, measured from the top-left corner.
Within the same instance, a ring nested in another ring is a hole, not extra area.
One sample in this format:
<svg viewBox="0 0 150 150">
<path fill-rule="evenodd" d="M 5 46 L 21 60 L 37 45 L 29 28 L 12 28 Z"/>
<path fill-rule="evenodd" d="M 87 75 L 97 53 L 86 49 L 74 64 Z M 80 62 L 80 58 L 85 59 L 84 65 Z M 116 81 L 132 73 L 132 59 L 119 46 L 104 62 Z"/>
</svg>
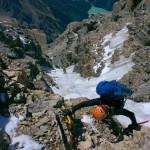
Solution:
<svg viewBox="0 0 150 150">
<path fill-rule="evenodd" d="M 109 1 L 110 2 L 110 1 Z M 93 3 L 93 2 L 92 2 Z M 102 2 L 105 4 L 105 2 Z M 110 10 L 114 1 L 105 5 Z M 111 5 L 111 6 L 110 6 Z M 85 0 L 1 0 L 0 11 L 16 18 L 23 28 L 43 30 L 48 42 L 62 33 L 67 24 L 88 18 L 91 4 Z"/>
</svg>

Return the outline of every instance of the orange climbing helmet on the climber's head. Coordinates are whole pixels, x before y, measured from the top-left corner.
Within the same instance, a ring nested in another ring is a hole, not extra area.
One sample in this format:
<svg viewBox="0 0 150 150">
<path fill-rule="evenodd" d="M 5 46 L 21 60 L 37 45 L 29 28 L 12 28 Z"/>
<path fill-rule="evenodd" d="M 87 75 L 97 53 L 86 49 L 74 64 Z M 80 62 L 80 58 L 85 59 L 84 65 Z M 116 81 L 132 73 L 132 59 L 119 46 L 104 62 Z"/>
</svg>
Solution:
<svg viewBox="0 0 150 150">
<path fill-rule="evenodd" d="M 110 107 L 102 104 L 93 109 L 92 114 L 95 119 L 103 120 L 107 117 Z"/>
</svg>

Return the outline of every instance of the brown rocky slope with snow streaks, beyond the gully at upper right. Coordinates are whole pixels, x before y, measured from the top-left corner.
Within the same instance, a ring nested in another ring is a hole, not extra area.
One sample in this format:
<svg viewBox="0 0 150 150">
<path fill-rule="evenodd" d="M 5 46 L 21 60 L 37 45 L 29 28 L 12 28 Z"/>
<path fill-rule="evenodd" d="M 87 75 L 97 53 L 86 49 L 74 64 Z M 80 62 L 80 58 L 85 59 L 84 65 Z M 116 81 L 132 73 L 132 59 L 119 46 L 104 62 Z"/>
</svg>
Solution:
<svg viewBox="0 0 150 150">
<path fill-rule="evenodd" d="M 132 60 L 135 63 L 132 71 L 121 81 L 135 89 L 133 99 L 150 101 L 147 88 L 150 87 L 149 6 L 148 0 L 120 0 L 112 14 L 97 14 L 91 19 L 70 23 L 46 53 L 54 65 L 62 68 L 74 65 L 74 71 L 83 77 L 100 76 L 105 67 L 115 67 L 118 61 L 123 63 L 122 57 Z M 113 53 L 107 52 L 108 48 L 113 49 Z M 106 54 L 111 62 L 108 66 Z"/>
</svg>

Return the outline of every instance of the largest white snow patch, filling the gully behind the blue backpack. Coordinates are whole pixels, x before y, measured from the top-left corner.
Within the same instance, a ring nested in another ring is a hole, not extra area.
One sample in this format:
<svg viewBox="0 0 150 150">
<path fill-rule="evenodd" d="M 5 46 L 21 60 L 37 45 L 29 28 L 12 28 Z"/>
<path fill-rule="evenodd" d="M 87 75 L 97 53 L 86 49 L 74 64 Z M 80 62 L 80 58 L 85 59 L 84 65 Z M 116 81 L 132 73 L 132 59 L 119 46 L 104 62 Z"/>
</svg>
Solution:
<svg viewBox="0 0 150 150">
<path fill-rule="evenodd" d="M 98 82 L 103 80 L 119 80 L 132 69 L 133 65 L 132 61 L 121 57 L 120 61 L 115 62 L 112 66 L 108 66 L 108 70 L 95 78 L 81 77 L 80 74 L 73 72 L 74 66 L 68 67 L 66 74 L 64 74 L 63 69 L 55 69 L 48 73 L 48 75 L 57 84 L 57 87 L 51 87 L 54 93 L 63 96 L 65 99 L 77 97 L 97 98 L 98 95 L 96 94 L 95 87 Z M 105 69 L 107 68 L 105 67 Z"/>
</svg>

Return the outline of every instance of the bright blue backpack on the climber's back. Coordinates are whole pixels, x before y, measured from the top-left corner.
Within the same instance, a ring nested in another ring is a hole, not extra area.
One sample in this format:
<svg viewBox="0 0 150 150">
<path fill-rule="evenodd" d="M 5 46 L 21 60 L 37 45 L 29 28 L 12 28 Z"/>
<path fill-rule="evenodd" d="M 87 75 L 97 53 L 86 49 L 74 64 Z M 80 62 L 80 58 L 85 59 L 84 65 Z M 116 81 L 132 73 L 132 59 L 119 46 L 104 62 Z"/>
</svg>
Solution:
<svg viewBox="0 0 150 150">
<path fill-rule="evenodd" d="M 96 87 L 97 94 L 107 100 L 117 100 L 119 98 L 131 96 L 132 90 L 126 85 L 113 81 L 101 81 Z"/>
</svg>

